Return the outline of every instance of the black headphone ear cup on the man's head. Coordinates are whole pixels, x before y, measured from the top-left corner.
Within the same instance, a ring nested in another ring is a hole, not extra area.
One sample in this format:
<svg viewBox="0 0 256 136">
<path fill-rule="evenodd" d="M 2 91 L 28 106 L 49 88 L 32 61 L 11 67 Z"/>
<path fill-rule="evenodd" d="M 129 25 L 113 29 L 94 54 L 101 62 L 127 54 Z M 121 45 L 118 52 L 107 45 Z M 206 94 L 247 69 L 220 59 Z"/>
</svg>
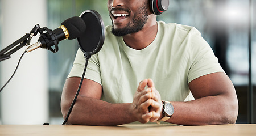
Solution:
<svg viewBox="0 0 256 136">
<path fill-rule="evenodd" d="M 169 7 L 169 0 L 150 0 L 150 10 L 155 15 L 160 15 Z"/>
</svg>

